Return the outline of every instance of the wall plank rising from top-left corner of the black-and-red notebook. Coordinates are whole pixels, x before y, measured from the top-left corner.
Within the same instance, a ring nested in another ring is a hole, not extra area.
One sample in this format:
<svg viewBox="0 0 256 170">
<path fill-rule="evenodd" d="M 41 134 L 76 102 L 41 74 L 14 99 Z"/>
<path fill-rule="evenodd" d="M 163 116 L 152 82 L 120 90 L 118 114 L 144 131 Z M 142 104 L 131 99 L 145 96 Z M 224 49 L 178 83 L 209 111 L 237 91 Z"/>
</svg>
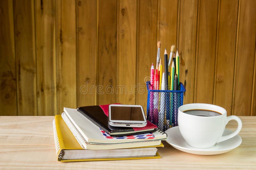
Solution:
<svg viewBox="0 0 256 170">
<path fill-rule="evenodd" d="M 96 1 L 77 0 L 77 107 L 96 105 L 97 86 Z M 86 22 L 84 22 L 86 21 Z"/>
</svg>

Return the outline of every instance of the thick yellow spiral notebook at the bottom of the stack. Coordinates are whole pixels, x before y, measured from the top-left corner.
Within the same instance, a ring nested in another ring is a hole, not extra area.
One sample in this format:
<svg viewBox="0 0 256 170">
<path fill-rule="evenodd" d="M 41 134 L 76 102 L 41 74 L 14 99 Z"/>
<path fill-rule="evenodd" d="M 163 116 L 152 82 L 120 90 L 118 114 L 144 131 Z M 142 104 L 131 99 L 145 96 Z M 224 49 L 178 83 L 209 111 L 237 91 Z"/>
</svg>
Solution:
<svg viewBox="0 0 256 170">
<path fill-rule="evenodd" d="M 160 158 L 156 146 L 144 146 L 126 149 L 85 150 L 77 142 L 61 115 L 53 120 L 53 132 L 58 161 L 92 161 L 92 160 L 124 160 Z M 99 146 L 99 145 L 97 145 Z"/>
</svg>

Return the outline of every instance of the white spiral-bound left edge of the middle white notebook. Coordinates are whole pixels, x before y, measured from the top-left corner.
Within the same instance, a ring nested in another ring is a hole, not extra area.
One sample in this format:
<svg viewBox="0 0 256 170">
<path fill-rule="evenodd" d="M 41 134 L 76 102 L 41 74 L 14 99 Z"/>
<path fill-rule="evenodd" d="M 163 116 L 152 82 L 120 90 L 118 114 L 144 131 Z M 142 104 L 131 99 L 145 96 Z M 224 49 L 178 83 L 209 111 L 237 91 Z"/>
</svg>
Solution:
<svg viewBox="0 0 256 170">
<path fill-rule="evenodd" d="M 69 119 L 67 114 L 65 112 L 63 112 L 61 114 L 61 117 L 63 118 L 64 122 L 67 124 L 67 126 L 70 129 L 70 131 L 72 132 L 72 134 L 75 136 L 79 145 L 83 149 L 86 149 L 83 144 L 85 144 L 85 146 L 86 146 L 87 141 L 84 139 L 84 137 L 81 135 L 81 133 L 76 129 L 76 126 L 71 122 L 71 120 Z"/>
</svg>

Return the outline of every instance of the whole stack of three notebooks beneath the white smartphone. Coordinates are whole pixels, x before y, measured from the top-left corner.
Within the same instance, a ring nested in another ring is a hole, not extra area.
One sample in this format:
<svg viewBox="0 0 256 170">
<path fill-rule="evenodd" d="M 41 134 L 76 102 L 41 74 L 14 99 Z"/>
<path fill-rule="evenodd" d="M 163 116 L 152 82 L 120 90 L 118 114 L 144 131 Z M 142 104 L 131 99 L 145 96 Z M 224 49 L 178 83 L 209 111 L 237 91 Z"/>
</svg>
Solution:
<svg viewBox="0 0 256 170">
<path fill-rule="evenodd" d="M 143 128 L 108 125 L 108 105 L 64 108 L 53 120 L 59 161 L 160 158 L 167 135 L 148 122 Z"/>
</svg>

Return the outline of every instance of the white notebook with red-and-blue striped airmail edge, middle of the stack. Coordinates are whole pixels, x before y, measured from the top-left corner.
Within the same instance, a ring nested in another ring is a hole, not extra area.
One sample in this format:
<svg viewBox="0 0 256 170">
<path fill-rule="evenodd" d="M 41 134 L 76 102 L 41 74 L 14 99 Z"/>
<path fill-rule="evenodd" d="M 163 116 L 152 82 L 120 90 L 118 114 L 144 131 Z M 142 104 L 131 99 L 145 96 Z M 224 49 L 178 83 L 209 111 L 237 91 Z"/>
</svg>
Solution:
<svg viewBox="0 0 256 170">
<path fill-rule="evenodd" d="M 124 144 L 134 142 L 160 141 L 167 139 L 166 133 L 161 130 L 155 131 L 152 134 L 147 134 L 146 136 L 143 134 L 143 137 L 138 138 L 129 136 L 128 138 L 113 138 L 104 133 L 104 131 L 102 131 L 100 127 L 92 123 L 88 118 L 84 117 L 76 109 L 64 108 L 64 111 L 65 114 L 62 114 L 63 120 L 67 124 L 69 121 L 72 122 L 72 124 L 76 127 L 77 131 L 79 131 L 81 136 L 86 140 L 86 142 L 91 144 Z"/>
</svg>

